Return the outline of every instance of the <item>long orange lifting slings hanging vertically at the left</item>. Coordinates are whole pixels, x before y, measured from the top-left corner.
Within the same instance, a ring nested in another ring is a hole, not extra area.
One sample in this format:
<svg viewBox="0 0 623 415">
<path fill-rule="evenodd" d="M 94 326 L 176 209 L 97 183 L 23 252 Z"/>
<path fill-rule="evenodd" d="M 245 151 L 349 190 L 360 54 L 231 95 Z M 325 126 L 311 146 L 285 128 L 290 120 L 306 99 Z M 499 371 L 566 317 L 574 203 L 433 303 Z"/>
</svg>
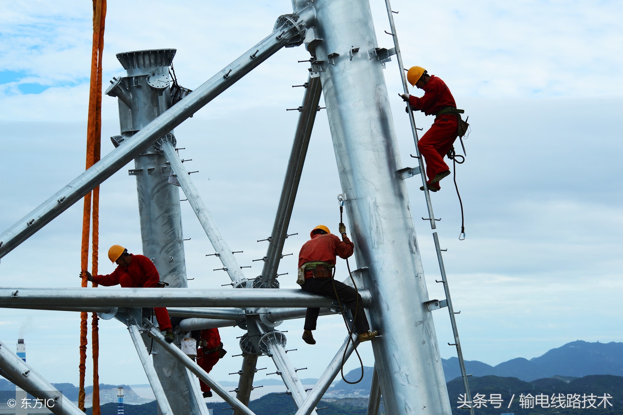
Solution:
<svg viewBox="0 0 623 415">
<path fill-rule="evenodd" d="M 86 169 L 100 160 L 102 141 L 102 55 L 104 50 L 104 27 L 106 19 L 106 0 L 93 0 L 93 47 L 91 51 L 91 82 L 88 99 L 87 122 L 87 156 Z M 91 220 L 93 220 L 92 236 L 92 274 L 97 275 L 98 244 L 99 244 L 99 203 L 100 188 L 96 187 L 92 193 L 85 195 L 82 211 L 82 246 L 80 249 L 80 268 L 88 268 L 88 241 Z M 92 206 L 93 204 L 93 206 Z M 93 213 L 91 210 L 93 209 Z M 86 274 L 82 279 L 82 286 L 87 286 Z M 97 287 L 97 284 L 93 284 Z M 93 356 L 93 415 L 100 415 L 99 389 L 99 336 L 98 317 L 92 315 L 92 356 Z M 80 313 L 80 390 L 78 392 L 78 408 L 84 410 L 85 401 L 85 371 L 87 360 L 87 313 Z"/>
</svg>

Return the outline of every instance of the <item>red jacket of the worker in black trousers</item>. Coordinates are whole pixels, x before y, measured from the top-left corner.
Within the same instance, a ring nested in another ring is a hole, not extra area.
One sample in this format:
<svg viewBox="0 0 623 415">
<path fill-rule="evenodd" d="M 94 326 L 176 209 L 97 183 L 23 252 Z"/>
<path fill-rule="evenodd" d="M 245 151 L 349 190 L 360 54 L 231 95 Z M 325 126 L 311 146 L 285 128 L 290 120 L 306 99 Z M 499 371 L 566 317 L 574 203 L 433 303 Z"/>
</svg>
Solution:
<svg viewBox="0 0 623 415">
<path fill-rule="evenodd" d="M 301 247 L 298 254 L 298 268 L 303 264 L 311 261 L 323 261 L 331 265 L 335 265 L 336 255 L 342 259 L 346 259 L 353 254 L 354 244 L 344 236 L 344 241 L 333 235 L 333 233 L 320 233 L 312 235 L 312 239 L 308 240 Z M 305 271 L 305 279 L 312 278 L 312 270 Z"/>
</svg>

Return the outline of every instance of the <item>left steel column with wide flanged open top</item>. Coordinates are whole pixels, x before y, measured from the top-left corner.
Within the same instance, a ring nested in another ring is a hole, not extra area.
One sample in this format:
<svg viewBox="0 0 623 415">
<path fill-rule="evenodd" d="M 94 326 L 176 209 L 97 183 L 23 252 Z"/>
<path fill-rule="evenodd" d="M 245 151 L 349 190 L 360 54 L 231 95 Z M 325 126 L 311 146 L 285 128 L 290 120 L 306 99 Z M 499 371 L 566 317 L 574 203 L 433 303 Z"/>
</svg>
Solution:
<svg viewBox="0 0 623 415">
<path fill-rule="evenodd" d="M 107 94 L 118 96 L 121 137 L 117 141 L 132 140 L 132 136 L 145 128 L 171 106 L 169 65 L 174 49 L 139 50 L 117 54 L 127 76 L 117 79 Z M 130 98 L 130 101 L 128 101 Z M 129 106 L 128 106 L 129 105 Z M 160 280 L 171 287 L 187 287 L 186 259 L 182 236 L 179 189 L 169 184 L 171 169 L 160 151 L 163 141 L 174 142 L 173 130 L 158 144 L 154 144 L 134 159 L 136 193 L 141 221 L 142 254 L 155 264 Z M 166 143 L 164 143 L 166 144 Z M 161 353 L 155 345 L 153 366 L 175 413 L 199 415 L 199 404 L 192 393 L 188 373 L 183 365 Z M 172 412 L 173 414 L 173 412 Z"/>
</svg>

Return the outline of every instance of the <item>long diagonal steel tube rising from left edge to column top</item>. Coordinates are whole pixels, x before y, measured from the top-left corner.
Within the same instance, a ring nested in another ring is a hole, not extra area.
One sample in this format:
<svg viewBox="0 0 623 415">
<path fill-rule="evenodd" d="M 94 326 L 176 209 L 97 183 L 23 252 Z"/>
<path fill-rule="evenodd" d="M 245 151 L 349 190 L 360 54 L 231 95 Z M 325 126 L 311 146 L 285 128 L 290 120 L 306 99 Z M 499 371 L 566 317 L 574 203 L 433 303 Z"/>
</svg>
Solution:
<svg viewBox="0 0 623 415">
<path fill-rule="evenodd" d="M 131 139 L 121 142 L 121 145 L 103 157 L 93 167 L 82 174 L 63 189 L 39 205 L 31 213 L 17 221 L 11 228 L 0 234 L 0 258 L 9 253 L 17 245 L 36 233 L 49 221 L 60 215 L 80 200 L 84 195 L 100 185 L 108 177 L 120 170 L 132 159 L 158 139 L 164 136 L 185 119 L 192 116 L 204 105 L 216 98 L 222 91 L 244 77 L 253 68 L 275 54 L 293 38 L 300 35 L 300 30 L 313 24 L 314 11 L 312 7 L 303 10 L 298 17 L 298 27 L 279 27 L 264 40 L 247 50 L 234 62 L 227 65 L 221 72 L 207 80 L 186 98 L 169 108 L 161 116 L 151 121 L 145 128 L 133 135 Z M 282 33 L 283 32 L 283 33 Z"/>
</svg>

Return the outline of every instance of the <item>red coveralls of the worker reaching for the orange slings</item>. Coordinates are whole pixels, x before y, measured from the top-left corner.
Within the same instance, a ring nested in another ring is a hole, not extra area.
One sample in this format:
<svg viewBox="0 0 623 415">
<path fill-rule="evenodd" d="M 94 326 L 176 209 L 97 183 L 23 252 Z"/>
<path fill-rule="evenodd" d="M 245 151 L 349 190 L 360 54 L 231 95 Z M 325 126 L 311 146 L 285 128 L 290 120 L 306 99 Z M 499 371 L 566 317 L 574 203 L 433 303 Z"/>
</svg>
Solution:
<svg viewBox="0 0 623 415">
<path fill-rule="evenodd" d="M 131 263 L 128 266 L 118 265 L 115 271 L 108 275 L 94 275 L 93 282 L 100 286 L 116 286 L 124 288 L 152 288 L 160 281 L 158 269 L 149 258 L 144 255 L 130 254 Z M 164 307 L 155 307 L 154 313 L 160 330 L 171 329 L 169 313 Z"/>
</svg>

